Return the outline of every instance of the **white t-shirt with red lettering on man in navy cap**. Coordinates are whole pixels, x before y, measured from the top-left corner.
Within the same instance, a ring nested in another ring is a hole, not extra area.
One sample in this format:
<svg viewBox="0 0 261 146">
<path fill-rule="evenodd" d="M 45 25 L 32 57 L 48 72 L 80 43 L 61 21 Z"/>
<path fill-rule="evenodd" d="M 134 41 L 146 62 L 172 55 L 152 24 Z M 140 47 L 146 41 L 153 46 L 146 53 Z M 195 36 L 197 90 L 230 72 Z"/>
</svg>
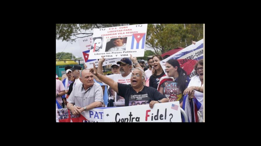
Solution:
<svg viewBox="0 0 261 146">
<path fill-rule="evenodd" d="M 131 72 L 130 72 L 130 74 L 128 74 L 125 77 L 123 77 L 121 74 L 111 74 L 111 75 L 107 75 L 107 77 L 112 79 L 115 82 L 118 82 L 118 83 L 131 84 Z M 107 84 L 105 84 L 105 85 L 107 85 Z M 110 88 L 110 86 L 108 86 L 108 89 L 109 88 Z M 117 95 L 117 92 L 114 91 L 114 96 L 116 96 L 116 95 Z M 109 99 L 113 99 L 113 98 L 114 98 L 113 96 L 109 96 Z M 116 99 L 114 99 L 114 101 L 115 101 L 115 105 L 117 105 L 117 106 L 124 106 L 125 105 L 125 99 L 120 99 L 119 100 L 120 102 L 117 101 Z"/>
</svg>

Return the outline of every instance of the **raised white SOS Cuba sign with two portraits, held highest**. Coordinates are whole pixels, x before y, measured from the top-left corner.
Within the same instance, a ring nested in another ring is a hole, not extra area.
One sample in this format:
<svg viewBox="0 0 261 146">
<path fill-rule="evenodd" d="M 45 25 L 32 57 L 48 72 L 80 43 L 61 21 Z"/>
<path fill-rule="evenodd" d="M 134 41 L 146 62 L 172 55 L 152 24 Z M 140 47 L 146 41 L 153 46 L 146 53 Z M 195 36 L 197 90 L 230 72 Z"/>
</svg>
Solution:
<svg viewBox="0 0 261 146">
<path fill-rule="evenodd" d="M 94 30 L 89 59 L 144 56 L 147 24 Z"/>
</svg>

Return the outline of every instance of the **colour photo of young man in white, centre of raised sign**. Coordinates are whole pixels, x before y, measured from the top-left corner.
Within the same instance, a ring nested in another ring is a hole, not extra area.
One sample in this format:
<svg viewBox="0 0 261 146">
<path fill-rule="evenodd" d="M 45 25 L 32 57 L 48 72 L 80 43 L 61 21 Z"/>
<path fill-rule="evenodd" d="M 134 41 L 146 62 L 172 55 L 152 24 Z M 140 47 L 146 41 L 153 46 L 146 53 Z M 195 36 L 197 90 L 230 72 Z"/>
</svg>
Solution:
<svg viewBox="0 0 261 146">
<path fill-rule="evenodd" d="M 125 51 L 127 37 L 107 39 L 105 52 Z"/>
</svg>

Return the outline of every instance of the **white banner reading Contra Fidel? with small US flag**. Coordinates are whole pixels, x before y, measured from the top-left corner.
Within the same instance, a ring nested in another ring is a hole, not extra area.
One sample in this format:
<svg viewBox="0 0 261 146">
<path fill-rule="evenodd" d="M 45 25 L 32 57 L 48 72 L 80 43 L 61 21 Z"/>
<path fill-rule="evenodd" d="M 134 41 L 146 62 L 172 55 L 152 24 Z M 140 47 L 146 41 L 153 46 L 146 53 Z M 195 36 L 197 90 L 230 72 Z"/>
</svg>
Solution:
<svg viewBox="0 0 261 146">
<path fill-rule="evenodd" d="M 103 110 L 104 122 L 181 122 L 179 101 Z"/>
</svg>

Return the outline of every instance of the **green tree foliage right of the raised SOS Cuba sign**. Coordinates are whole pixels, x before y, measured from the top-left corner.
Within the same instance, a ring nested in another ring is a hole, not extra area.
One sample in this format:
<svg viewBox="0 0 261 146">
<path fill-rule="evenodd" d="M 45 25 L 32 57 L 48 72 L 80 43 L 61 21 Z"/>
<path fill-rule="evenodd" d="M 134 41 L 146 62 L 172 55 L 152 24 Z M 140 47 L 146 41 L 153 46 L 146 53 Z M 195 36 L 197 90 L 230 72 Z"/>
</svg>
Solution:
<svg viewBox="0 0 261 146">
<path fill-rule="evenodd" d="M 203 24 L 148 24 L 146 43 L 156 54 L 203 39 Z"/>
</svg>

